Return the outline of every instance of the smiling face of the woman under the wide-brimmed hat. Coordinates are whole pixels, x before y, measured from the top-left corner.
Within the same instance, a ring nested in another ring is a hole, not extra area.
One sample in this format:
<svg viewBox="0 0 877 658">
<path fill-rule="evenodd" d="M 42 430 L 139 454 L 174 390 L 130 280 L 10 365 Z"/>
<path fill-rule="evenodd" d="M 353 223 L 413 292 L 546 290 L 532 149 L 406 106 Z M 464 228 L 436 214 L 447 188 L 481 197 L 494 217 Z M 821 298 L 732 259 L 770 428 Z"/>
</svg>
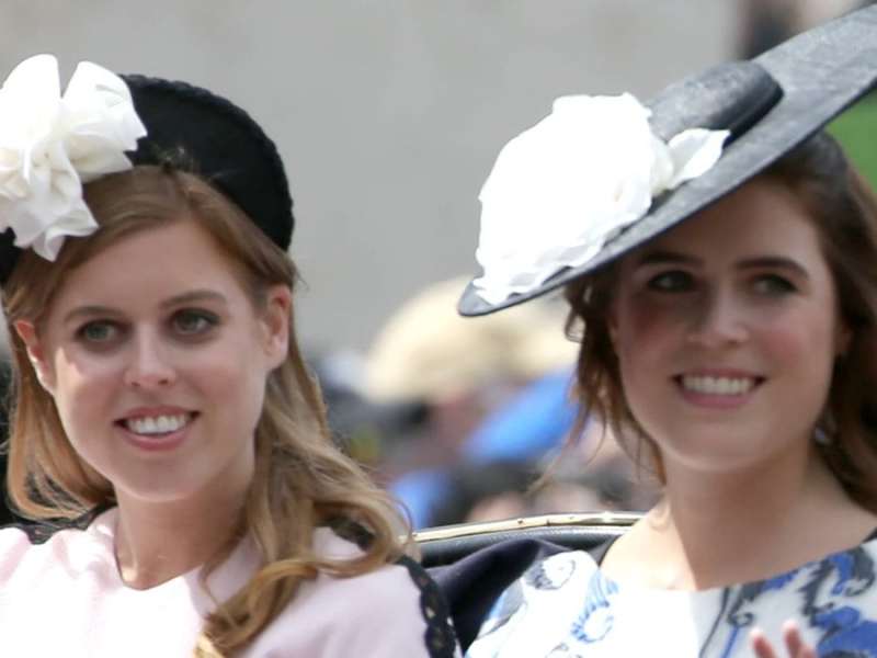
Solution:
<svg viewBox="0 0 877 658">
<path fill-rule="evenodd" d="M 628 405 L 668 473 L 809 450 L 847 331 L 786 188 L 755 179 L 631 252 L 610 316 Z"/>
</svg>

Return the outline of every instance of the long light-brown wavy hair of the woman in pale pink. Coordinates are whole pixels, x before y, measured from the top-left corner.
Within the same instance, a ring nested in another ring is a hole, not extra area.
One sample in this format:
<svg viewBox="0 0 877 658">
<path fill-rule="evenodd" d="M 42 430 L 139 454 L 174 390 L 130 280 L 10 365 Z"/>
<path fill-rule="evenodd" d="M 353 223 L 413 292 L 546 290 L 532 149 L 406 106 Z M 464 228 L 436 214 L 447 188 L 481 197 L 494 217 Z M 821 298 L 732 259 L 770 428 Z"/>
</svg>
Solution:
<svg viewBox="0 0 877 658">
<path fill-rule="evenodd" d="M 21 254 L 3 286 L 13 354 L 8 487 L 13 506 L 32 519 L 72 520 L 115 503 L 113 485 L 79 457 L 61 427 L 54 400 L 39 386 L 12 324 L 41 320 L 65 273 L 134 232 L 193 220 L 228 254 L 257 310 L 276 284 L 294 288 L 288 257 L 225 195 L 201 178 L 158 167 L 135 169 L 86 185 L 86 201 L 100 230 L 68 239 L 53 263 Z M 405 524 L 391 500 L 333 444 L 318 386 L 309 375 L 291 322 L 286 361 L 267 377 L 255 429 L 255 469 L 240 519 L 205 565 L 202 585 L 244 534 L 261 549 L 264 566 L 205 621 L 198 657 L 228 657 L 246 647 L 318 572 L 350 577 L 392 561 L 406 552 Z M 355 524 L 367 533 L 360 557 L 328 560 L 314 554 L 315 527 Z"/>
</svg>

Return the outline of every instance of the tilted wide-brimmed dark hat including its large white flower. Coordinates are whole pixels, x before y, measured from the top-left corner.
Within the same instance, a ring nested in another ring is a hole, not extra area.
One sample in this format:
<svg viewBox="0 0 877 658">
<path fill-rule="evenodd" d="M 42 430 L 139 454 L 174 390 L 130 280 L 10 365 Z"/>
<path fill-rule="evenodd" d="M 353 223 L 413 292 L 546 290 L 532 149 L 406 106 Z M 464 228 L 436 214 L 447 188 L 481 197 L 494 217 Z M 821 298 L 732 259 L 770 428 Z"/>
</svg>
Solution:
<svg viewBox="0 0 877 658">
<path fill-rule="evenodd" d="M 645 140 L 653 135 L 662 143 L 659 151 L 668 144 L 671 151 L 676 150 L 669 156 L 661 152 L 653 156 L 649 151 L 646 159 L 654 157 L 654 161 L 659 161 L 663 158 L 672 164 L 680 158 L 687 158 L 692 139 L 682 139 L 674 147 L 674 136 L 694 129 L 695 141 L 707 139 L 699 134 L 704 128 L 717 131 L 713 134 L 717 139 L 704 149 L 711 149 L 714 157 L 707 166 L 683 178 L 684 182 L 670 183 L 659 188 L 657 193 L 652 189 L 650 197 L 648 186 L 651 181 L 653 188 L 653 178 L 649 179 L 648 163 L 645 180 L 641 170 L 635 171 L 634 182 L 639 180 L 639 186 L 645 185 L 647 194 L 641 212 L 631 211 L 636 204 L 622 204 L 620 209 L 608 212 L 604 201 L 588 200 L 592 193 L 600 192 L 602 185 L 611 186 L 611 193 L 625 201 L 628 188 L 636 185 L 630 180 L 606 178 L 603 170 L 614 164 L 610 162 L 604 167 L 599 157 L 595 164 L 584 168 L 588 177 L 579 175 L 576 167 L 595 150 L 589 139 L 594 135 L 601 139 L 604 131 L 602 126 L 580 124 L 569 128 L 569 124 L 561 125 L 566 121 L 563 113 L 571 115 L 570 106 L 580 103 L 576 99 L 586 97 L 570 97 L 574 102 L 559 99 L 553 116 L 503 149 L 482 190 L 478 259 L 485 275 L 466 287 L 458 306 L 460 314 L 486 315 L 544 295 L 652 239 L 793 150 L 870 90 L 876 81 L 877 7 L 869 7 L 800 34 L 752 60 L 724 64 L 671 84 L 645 104 L 642 113 L 647 131 L 651 132 Z M 589 112 L 586 116 L 601 116 L 600 112 Z M 610 116 L 606 121 L 612 123 L 616 121 L 613 114 L 617 112 L 603 112 L 602 116 Z M 577 120 L 570 121 L 574 124 Z M 588 121 L 581 120 L 582 123 Z M 624 128 L 618 134 L 629 132 Z M 554 146 L 539 151 L 542 145 L 551 139 Z M 618 150 L 624 150 L 624 145 Z M 546 160 L 551 162 L 534 164 L 533 157 L 523 157 L 535 151 L 548 154 L 550 157 Z M 511 163 L 504 162 L 504 158 Z M 692 159 L 695 160 L 697 158 Z M 529 163 L 522 164 L 525 161 Z M 654 170 L 652 164 L 651 171 Z M 498 174 L 499 183 L 492 180 Z M 573 200 L 573 205 L 584 198 L 581 201 L 584 212 L 569 211 L 570 204 L 562 194 L 555 193 L 557 185 L 562 184 L 558 179 L 566 180 L 568 197 Z M 528 190 L 532 185 L 535 192 Z M 591 213 L 592 208 L 596 208 L 595 214 Z M 543 227 L 551 223 L 554 212 L 568 213 L 565 218 L 568 220 L 560 222 L 563 226 L 557 229 L 555 237 L 546 237 Z M 620 219 L 607 219 L 613 213 L 620 215 Z M 491 225 L 487 224 L 488 219 Z M 586 226 L 592 222 L 605 225 L 602 232 L 592 231 L 588 239 L 581 238 L 582 231 L 574 225 Z M 514 239 L 510 242 L 505 235 L 515 232 L 520 234 L 516 242 Z M 580 239 L 581 243 L 577 242 Z M 494 275 L 491 269 L 499 274 Z"/>
</svg>

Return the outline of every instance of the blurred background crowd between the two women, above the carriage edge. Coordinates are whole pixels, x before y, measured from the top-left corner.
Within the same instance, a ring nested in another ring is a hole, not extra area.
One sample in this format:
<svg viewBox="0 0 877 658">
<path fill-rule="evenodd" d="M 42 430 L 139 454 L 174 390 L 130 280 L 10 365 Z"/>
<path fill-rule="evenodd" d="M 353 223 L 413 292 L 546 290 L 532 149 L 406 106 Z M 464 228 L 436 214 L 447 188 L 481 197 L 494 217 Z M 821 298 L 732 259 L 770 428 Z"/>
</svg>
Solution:
<svg viewBox="0 0 877 658">
<path fill-rule="evenodd" d="M 648 508 L 648 474 L 572 401 L 565 304 L 460 318 L 465 283 L 414 295 L 366 354 L 314 360 L 339 440 L 414 527 Z"/>
</svg>

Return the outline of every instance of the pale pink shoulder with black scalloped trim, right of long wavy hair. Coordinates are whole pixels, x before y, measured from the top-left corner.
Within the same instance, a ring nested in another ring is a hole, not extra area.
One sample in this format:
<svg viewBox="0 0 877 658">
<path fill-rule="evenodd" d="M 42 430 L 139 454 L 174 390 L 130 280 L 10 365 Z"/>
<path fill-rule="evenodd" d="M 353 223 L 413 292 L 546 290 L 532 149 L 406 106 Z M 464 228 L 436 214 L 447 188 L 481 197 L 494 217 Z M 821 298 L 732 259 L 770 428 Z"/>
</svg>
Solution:
<svg viewBox="0 0 877 658">
<path fill-rule="evenodd" d="M 331 558 L 361 553 L 355 544 L 329 530 L 318 531 L 315 548 L 318 555 Z M 284 656 L 457 655 L 441 594 L 429 575 L 409 558 L 352 578 L 320 574 L 301 585 L 258 643 L 260 651 L 283 647 Z"/>
</svg>

